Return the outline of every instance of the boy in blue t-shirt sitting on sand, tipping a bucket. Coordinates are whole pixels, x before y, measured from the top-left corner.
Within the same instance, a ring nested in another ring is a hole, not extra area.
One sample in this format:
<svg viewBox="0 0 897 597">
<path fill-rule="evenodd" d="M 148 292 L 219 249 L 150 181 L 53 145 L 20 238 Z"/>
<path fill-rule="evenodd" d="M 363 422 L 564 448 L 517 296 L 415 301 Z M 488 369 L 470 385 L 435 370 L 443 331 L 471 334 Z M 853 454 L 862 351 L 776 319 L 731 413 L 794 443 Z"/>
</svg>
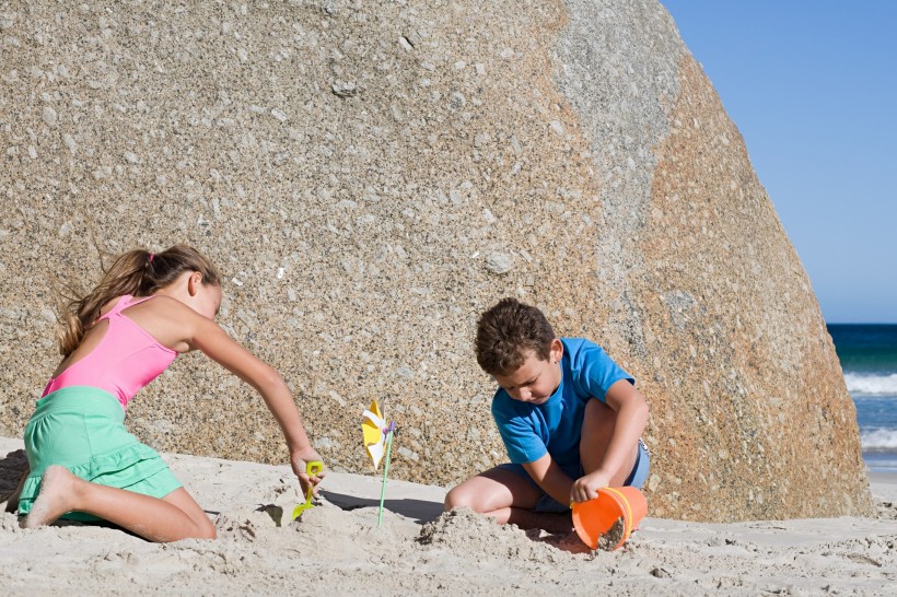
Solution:
<svg viewBox="0 0 897 597">
<path fill-rule="evenodd" d="M 570 506 L 604 487 L 641 488 L 648 403 L 597 344 L 557 338 L 536 307 L 504 298 L 477 323 L 477 362 L 498 382 L 492 417 L 511 464 L 467 479 L 445 510 L 569 531 Z"/>
</svg>

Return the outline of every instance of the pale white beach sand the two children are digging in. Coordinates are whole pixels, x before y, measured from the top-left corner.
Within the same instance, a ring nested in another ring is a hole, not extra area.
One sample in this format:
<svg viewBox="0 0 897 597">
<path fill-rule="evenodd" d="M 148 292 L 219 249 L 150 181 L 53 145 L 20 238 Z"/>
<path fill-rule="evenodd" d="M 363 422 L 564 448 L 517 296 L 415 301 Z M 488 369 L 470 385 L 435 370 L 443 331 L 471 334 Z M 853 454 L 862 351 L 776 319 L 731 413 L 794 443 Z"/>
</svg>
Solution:
<svg viewBox="0 0 897 597">
<path fill-rule="evenodd" d="M 0 438 L 0 491 L 20 440 Z M 470 513 L 440 517 L 444 490 L 330 473 L 302 501 L 286 466 L 165 456 L 218 518 L 219 538 L 153 545 L 91 526 L 0 518 L 4 595 L 817 595 L 897 593 L 897 477 L 872 475 L 878 518 L 696 524 L 646 518 L 626 548 L 571 554 Z M 266 508 L 267 506 L 267 508 Z M 343 510 L 342 506 L 347 510 Z M 649 504 L 650 514 L 650 504 Z M 435 520 L 435 523 L 430 524 Z"/>
</svg>

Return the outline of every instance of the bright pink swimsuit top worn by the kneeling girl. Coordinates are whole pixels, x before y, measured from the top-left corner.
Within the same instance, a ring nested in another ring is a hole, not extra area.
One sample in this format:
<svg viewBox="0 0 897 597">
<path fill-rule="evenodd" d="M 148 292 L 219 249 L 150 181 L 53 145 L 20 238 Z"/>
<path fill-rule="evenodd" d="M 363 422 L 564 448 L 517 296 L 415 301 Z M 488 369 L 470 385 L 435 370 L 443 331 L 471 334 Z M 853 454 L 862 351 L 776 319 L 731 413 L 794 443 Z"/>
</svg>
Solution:
<svg viewBox="0 0 897 597">
<path fill-rule="evenodd" d="M 107 314 L 95 324 L 108 319 L 109 325 L 100 343 L 84 358 L 49 381 L 44 396 L 69 386 L 105 389 L 128 406 L 140 388 L 159 377 L 174 362 L 177 352 L 159 343 L 147 330 L 135 324 L 123 309 L 148 301 L 123 295 Z"/>
</svg>

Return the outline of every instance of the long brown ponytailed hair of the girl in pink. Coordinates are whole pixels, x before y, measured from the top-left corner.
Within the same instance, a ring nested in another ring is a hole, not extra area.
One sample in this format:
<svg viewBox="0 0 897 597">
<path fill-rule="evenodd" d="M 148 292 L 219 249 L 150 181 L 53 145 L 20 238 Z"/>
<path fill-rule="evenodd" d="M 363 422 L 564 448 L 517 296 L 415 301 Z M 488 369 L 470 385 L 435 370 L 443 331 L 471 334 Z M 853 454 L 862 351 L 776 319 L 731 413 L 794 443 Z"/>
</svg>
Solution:
<svg viewBox="0 0 897 597">
<path fill-rule="evenodd" d="M 116 257 L 103 279 L 85 296 L 63 296 L 59 320 L 59 352 L 71 354 L 100 317 L 103 305 L 123 294 L 149 296 L 174 282 L 185 271 L 198 271 L 206 285 L 219 285 L 221 276 L 209 259 L 187 245 L 174 245 L 162 253 L 129 250 Z"/>
</svg>

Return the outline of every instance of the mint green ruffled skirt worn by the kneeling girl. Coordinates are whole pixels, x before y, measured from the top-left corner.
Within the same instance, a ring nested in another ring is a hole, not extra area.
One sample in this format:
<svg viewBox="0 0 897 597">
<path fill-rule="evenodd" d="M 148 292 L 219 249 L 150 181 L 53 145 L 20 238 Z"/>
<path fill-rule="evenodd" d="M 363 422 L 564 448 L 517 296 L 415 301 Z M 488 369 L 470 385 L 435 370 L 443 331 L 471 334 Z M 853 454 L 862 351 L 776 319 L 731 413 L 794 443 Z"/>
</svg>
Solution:
<svg viewBox="0 0 897 597">
<path fill-rule="evenodd" d="M 31 471 L 19 497 L 19 514 L 31 512 L 40 479 L 50 465 L 101 485 L 164 497 L 182 487 L 153 448 L 125 429 L 125 410 L 108 391 L 70 386 L 37 400 L 27 426 L 25 452 Z M 98 520 L 70 512 L 69 520 Z"/>
</svg>

